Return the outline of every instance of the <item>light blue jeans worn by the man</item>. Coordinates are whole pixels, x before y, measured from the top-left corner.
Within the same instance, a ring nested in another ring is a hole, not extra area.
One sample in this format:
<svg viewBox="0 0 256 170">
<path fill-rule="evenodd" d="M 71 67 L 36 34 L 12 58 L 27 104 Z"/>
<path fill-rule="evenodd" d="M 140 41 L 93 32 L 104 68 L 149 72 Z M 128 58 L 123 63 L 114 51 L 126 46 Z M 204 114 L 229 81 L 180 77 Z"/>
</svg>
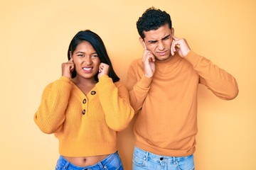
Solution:
<svg viewBox="0 0 256 170">
<path fill-rule="evenodd" d="M 193 154 L 188 157 L 166 157 L 134 148 L 132 169 L 194 170 Z"/>
</svg>

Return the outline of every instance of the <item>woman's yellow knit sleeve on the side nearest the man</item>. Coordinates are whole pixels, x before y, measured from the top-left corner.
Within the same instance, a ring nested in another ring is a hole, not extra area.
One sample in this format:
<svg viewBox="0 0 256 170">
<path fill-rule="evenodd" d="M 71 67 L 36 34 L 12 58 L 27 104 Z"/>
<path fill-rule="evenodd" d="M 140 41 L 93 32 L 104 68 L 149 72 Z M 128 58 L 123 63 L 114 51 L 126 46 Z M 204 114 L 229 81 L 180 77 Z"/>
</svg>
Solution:
<svg viewBox="0 0 256 170">
<path fill-rule="evenodd" d="M 127 128 L 134 116 L 134 110 L 130 106 L 126 87 L 120 82 L 113 83 L 112 79 L 105 75 L 100 77 L 96 88 L 107 125 L 115 131 Z"/>
</svg>

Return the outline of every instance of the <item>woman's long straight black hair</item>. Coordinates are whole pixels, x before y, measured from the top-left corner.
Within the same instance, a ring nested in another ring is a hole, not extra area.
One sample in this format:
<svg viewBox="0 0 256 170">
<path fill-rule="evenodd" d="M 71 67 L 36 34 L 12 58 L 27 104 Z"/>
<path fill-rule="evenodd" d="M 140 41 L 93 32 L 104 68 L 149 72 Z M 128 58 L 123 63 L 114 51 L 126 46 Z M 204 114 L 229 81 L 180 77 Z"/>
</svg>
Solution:
<svg viewBox="0 0 256 170">
<path fill-rule="evenodd" d="M 102 39 L 99 35 L 92 32 L 91 30 L 80 30 L 71 40 L 70 45 L 68 47 L 68 60 L 70 60 L 70 52 L 71 55 L 73 55 L 73 52 L 75 51 L 76 47 L 78 47 L 78 45 L 82 41 L 90 42 L 92 47 L 97 52 L 97 55 L 100 58 L 100 62 L 103 62 L 110 66 L 110 73 L 108 76 L 113 80 L 113 82 L 119 81 L 119 77 L 117 77 L 117 74 L 114 72 L 112 63 L 110 61 L 110 57 L 107 55 L 107 50 Z M 74 69 L 74 71 L 72 72 L 72 78 L 76 77 L 76 74 L 77 73 Z M 95 75 L 95 81 L 99 81 L 97 74 Z"/>
</svg>

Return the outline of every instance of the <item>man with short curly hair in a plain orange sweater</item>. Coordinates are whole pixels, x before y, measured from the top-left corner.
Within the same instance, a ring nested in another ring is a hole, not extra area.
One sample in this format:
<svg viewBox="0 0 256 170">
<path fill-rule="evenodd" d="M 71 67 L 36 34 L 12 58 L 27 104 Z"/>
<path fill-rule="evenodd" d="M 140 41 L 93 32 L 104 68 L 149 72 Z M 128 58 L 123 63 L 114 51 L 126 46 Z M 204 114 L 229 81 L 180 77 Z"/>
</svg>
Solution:
<svg viewBox="0 0 256 170">
<path fill-rule="evenodd" d="M 127 88 L 135 113 L 133 170 L 194 169 L 198 84 L 219 98 L 238 95 L 235 78 L 174 36 L 171 17 L 154 7 L 137 21 L 142 59 L 129 67 Z"/>
</svg>

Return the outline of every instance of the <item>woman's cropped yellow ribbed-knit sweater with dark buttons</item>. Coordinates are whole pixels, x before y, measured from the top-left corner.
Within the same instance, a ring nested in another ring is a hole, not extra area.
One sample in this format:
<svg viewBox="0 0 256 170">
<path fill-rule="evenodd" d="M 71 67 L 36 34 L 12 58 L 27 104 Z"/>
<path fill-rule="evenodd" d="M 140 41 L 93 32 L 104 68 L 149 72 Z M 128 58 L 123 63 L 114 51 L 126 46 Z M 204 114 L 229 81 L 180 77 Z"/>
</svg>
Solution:
<svg viewBox="0 0 256 170">
<path fill-rule="evenodd" d="M 102 76 L 85 96 L 70 79 L 60 77 L 46 86 L 34 120 L 43 132 L 55 133 L 61 155 L 90 157 L 116 152 L 116 133 L 133 115 L 122 83 Z"/>
</svg>

